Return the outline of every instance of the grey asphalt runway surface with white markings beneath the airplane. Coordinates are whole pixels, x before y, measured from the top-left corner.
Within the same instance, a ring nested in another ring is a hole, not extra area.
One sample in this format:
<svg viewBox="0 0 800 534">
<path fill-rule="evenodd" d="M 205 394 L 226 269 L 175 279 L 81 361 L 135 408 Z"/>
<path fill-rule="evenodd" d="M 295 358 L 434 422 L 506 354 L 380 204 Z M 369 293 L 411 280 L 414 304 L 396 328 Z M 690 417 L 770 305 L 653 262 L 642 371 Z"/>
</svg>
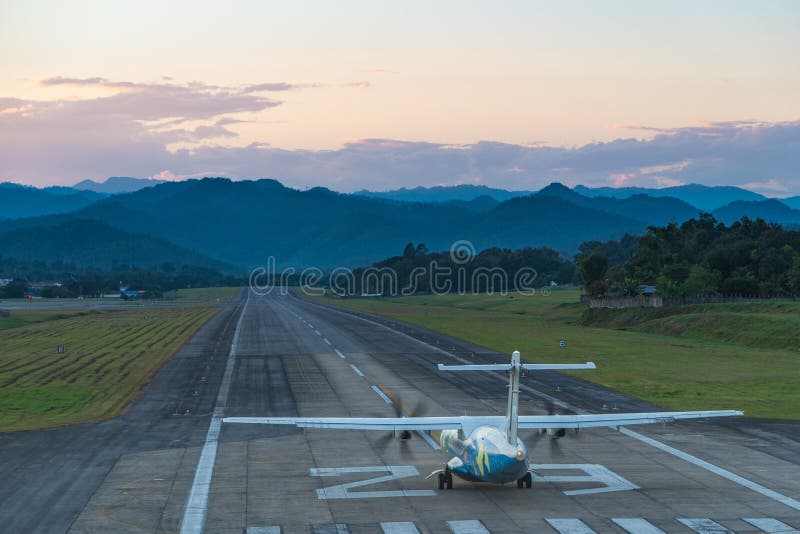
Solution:
<svg viewBox="0 0 800 534">
<path fill-rule="evenodd" d="M 587 355 L 586 359 L 591 359 Z M 220 425 L 222 416 L 502 414 L 485 348 L 294 296 L 227 306 L 114 421 L 0 434 L 0 532 L 792 532 L 800 425 L 748 419 L 526 439 L 532 489 L 425 476 L 432 441 L 380 432 Z M 591 371 L 586 371 L 591 372 Z M 520 412 L 653 411 L 554 372 Z M 736 406 L 730 408 L 735 409 Z M 526 437 L 523 434 L 523 437 Z"/>
</svg>

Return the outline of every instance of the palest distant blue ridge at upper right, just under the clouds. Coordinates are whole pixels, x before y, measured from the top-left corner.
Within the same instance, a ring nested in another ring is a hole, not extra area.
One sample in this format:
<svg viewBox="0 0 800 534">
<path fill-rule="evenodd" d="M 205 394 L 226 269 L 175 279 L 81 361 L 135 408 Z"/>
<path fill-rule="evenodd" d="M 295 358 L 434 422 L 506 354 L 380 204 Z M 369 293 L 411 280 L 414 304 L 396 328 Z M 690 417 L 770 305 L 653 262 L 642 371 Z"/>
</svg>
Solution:
<svg viewBox="0 0 800 534">
<path fill-rule="evenodd" d="M 747 189 L 733 186 L 707 186 L 700 184 L 687 184 L 662 189 L 645 187 L 586 187 L 576 185 L 575 191 L 588 197 L 614 197 L 628 198 L 633 195 L 648 195 L 651 197 L 674 197 L 704 211 L 714 211 L 717 208 L 737 200 L 757 201 L 765 200 L 764 195 L 753 193 Z"/>
</svg>

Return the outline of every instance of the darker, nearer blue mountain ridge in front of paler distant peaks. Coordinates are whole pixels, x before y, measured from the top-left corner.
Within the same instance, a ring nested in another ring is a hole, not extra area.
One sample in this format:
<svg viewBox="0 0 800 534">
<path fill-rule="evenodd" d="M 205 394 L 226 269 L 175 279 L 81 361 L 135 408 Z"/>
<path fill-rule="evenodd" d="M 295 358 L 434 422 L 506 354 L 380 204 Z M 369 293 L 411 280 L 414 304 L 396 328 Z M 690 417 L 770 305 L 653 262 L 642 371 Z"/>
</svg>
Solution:
<svg viewBox="0 0 800 534">
<path fill-rule="evenodd" d="M 271 256 L 279 266 L 330 268 L 366 265 L 398 254 L 409 242 L 447 250 L 459 239 L 477 250 L 550 246 L 571 255 L 584 241 L 639 234 L 648 225 L 683 222 L 698 212 L 671 197 L 590 198 L 561 184 L 492 202 L 403 202 L 322 187 L 299 191 L 275 180 L 206 178 L 116 194 L 73 213 L 5 221 L 2 228 L 68 227 L 89 219 L 228 264 L 265 265 Z M 719 215 L 795 220 L 790 208 L 777 204 L 743 203 Z M 63 239 L 69 243 L 68 235 Z"/>
</svg>

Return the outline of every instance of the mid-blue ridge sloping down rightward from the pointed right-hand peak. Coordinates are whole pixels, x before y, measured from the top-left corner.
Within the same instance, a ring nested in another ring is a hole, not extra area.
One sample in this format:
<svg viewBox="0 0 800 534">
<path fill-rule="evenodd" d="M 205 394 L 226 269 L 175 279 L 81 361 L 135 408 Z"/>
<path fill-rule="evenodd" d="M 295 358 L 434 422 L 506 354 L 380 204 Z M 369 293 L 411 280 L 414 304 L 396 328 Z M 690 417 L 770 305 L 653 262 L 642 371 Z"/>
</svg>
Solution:
<svg viewBox="0 0 800 534">
<path fill-rule="evenodd" d="M 640 221 L 645 226 L 683 222 L 696 217 L 700 210 L 673 197 L 652 197 L 637 194 L 626 198 L 587 197 L 560 183 L 552 183 L 536 196 L 558 197 L 577 206 L 604 211 Z"/>
</svg>

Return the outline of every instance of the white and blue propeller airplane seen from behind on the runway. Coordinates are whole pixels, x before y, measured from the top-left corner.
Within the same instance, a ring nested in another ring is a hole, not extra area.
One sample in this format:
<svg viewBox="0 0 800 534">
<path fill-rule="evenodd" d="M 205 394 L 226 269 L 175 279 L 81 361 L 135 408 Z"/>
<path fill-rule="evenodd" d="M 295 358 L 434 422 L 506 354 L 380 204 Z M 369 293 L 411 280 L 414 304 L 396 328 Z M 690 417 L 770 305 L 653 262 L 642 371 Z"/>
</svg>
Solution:
<svg viewBox="0 0 800 534">
<path fill-rule="evenodd" d="M 596 369 L 592 362 L 581 364 L 521 363 L 519 351 L 510 363 L 489 365 L 443 365 L 440 371 L 509 371 L 508 408 L 505 416 L 445 417 L 226 417 L 224 423 L 295 425 L 299 428 L 335 428 L 345 430 L 383 430 L 403 439 L 412 431 L 439 430 L 439 443 L 450 457 L 437 476 L 439 489 L 453 488 L 453 475 L 470 482 L 506 484 L 516 481 L 518 488 L 530 488 L 533 477 L 528 449 L 519 438 L 519 430 L 538 429 L 558 439 L 567 429 L 621 427 L 668 423 L 681 419 L 705 419 L 743 415 L 736 410 L 694 412 L 648 412 L 588 415 L 519 415 L 519 380 L 522 371 Z"/>
</svg>

